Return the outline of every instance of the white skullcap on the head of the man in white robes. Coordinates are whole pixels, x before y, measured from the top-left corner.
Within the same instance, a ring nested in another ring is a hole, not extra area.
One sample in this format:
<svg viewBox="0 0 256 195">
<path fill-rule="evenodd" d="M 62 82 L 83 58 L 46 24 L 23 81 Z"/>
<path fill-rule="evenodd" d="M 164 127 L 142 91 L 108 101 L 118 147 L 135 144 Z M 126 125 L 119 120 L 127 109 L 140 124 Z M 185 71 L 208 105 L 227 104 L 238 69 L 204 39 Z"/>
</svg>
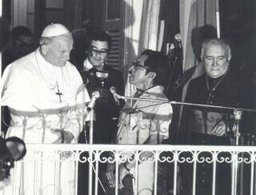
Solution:
<svg viewBox="0 0 256 195">
<path fill-rule="evenodd" d="M 67 34 L 67 33 L 70 33 L 70 30 L 68 30 L 66 26 L 58 23 L 56 24 L 51 23 L 50 25 L 46 26 L 44 30 L 42 30 L 41 37 L 50 38 L 50 37 L 60 36 L 62 34 Z"/>
</svg>

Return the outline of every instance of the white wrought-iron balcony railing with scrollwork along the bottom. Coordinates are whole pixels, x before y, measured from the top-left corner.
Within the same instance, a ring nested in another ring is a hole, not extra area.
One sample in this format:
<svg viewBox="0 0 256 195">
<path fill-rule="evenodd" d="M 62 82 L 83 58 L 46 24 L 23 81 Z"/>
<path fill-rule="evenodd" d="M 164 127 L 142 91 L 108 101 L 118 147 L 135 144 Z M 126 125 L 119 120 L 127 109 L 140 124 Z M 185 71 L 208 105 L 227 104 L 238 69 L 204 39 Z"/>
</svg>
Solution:
<svg viewBox="0 0 256 195">
<path fill-rule="evenodd" d="M 12 170 L 12 184 L 8 186 L 2 194 L 62 194 L 60 181 L 62 177 L 62 166 L 60 164 L 65 164 L 66 161 L 72 163 L 74 165 L 74 194 L 78 193 L 78 162 L 87 163 L 90 166 L 89 172 L 95 174 L 98 177 L 100 173 L 99 163 L 106 163 L 106 161 L 117 161 L 120 164 L 124 160 L 121 156 L 123 153 L 131 152 L 134 153 L 134 161 L 136 161 L 135 168 L 138 170 L 139 165 L 139 155 L 143 151 L 151 151 L 153 157 L 151 157 L 150 161 L 154 161 L 154 168 L 158 170 L 159 163 L 167 163 L 173 165 L 173 174 L 168 177 L 172 177 L 170 182 L 172 182 L 173 192 L 170 194 L 179 194 L 180 185 L 178 182 L 178 178 L 180 176 L 180 168 L 182 164 L 190 164 L 193 167 L 193 181 L 192 181 L 192 194 L 196 194 L 196 180 L 197 180 L 197 165 L 202 163 L 209 163 L 212 165 L 212 189 L 211 193 L 216 193 L 216 170 L 218 169 L 218 163 L 226 163 L 230 165 L 230 193 L 232 195 L 242 194 L 243 190 L 243 181 L 247 179 L 250 181 L 250 189 L 248 194 L 253 195 L 256 193 L 254 186 L 255 184 L 255 161 L 256 161 L 256 147 L 254 146 L 206 146 L 206 145 L 32 145 L 27 144 L 27 153 L 26 157 L 23 161 L 18 161 L 15 163 L 15 167 Z M 66 151 L 69 151 L 70 154 L 67 157 Z M 104 152 L 110 152 L 114 154 L 114 159 L 106 158 L 103 154 Z M 88 152 L 90 155 L 87 157 L 81 157 L 81 153 Z M 204 153 L 204 155 L 202 155 Z M 225 153 L 223 156 L 222 154 Z M 65 155 L 64 155 L 65 154 Z M 207 154 L 207 155 L 205 155 Z M 90 156 L 90 157 L 89 157 Z M 42 173 L 45 173 L 49 170 L 47 167 L 42 169 L 42 163 L 51 161 L 54 165 L 54 169 L 51 172 L 51 177 L 54 178 L 54 183 L 52 184 L 52 188 L 50 190 L 51 193 L 44 193 L 44 189 L 42 189 Z M 30 189 L 24 189 L 21 186 L 22 181 L 19 172 L 21 171 L 19 165 L 22 163 L 30 163 L 30 173 L 25 173 L 22 177 L 23 180 L 26 180 L 26 177 L 33 178 L 33 184 L 31 184 Z M 90 163 L 88 163 L 90 162 Z M 93 163 L 91 163 L 93 162 Z M 118 168 L 118 164 L 116 167 Z M 244 167 L 249 167 L 249 173 L 243 173 Z M 41 168 L 41 169 L 39 169 Z M 136 174 L 138 171 L 135 171 L 134 176 L 134 194 L 138 194 L 137 191 L 137 177 Z M 157 171 L 155 171 L 157 173 Z M 31 175 L 29 175 L 31 174 Z M 118 171 L 115 174 L 118 176 Z M 89 181 L 85 181 L 89 183 L 89 192 L 86 194 L 98 194 L 98 188 L 101 187 L 101 183 L 99 180 L 93 180 L 93 177 L 90 176 Z M 168 180 L 169 181 L 169 180 Z M 157 183 L 158 183 L 158 174 L 154 175 L 154 193 L 157 193 Z M 116 180 L 116 184 L 118 184 L 118 180 Z M 94 187 L 93 187 L 94 186 Z M 116 185 L 117 186 L 117 185 Z M 114 190 L 115 194 L 118 194 L 118 189 Z M 70 195 L 70 193 L 69 193 Z"/>
</svg>

